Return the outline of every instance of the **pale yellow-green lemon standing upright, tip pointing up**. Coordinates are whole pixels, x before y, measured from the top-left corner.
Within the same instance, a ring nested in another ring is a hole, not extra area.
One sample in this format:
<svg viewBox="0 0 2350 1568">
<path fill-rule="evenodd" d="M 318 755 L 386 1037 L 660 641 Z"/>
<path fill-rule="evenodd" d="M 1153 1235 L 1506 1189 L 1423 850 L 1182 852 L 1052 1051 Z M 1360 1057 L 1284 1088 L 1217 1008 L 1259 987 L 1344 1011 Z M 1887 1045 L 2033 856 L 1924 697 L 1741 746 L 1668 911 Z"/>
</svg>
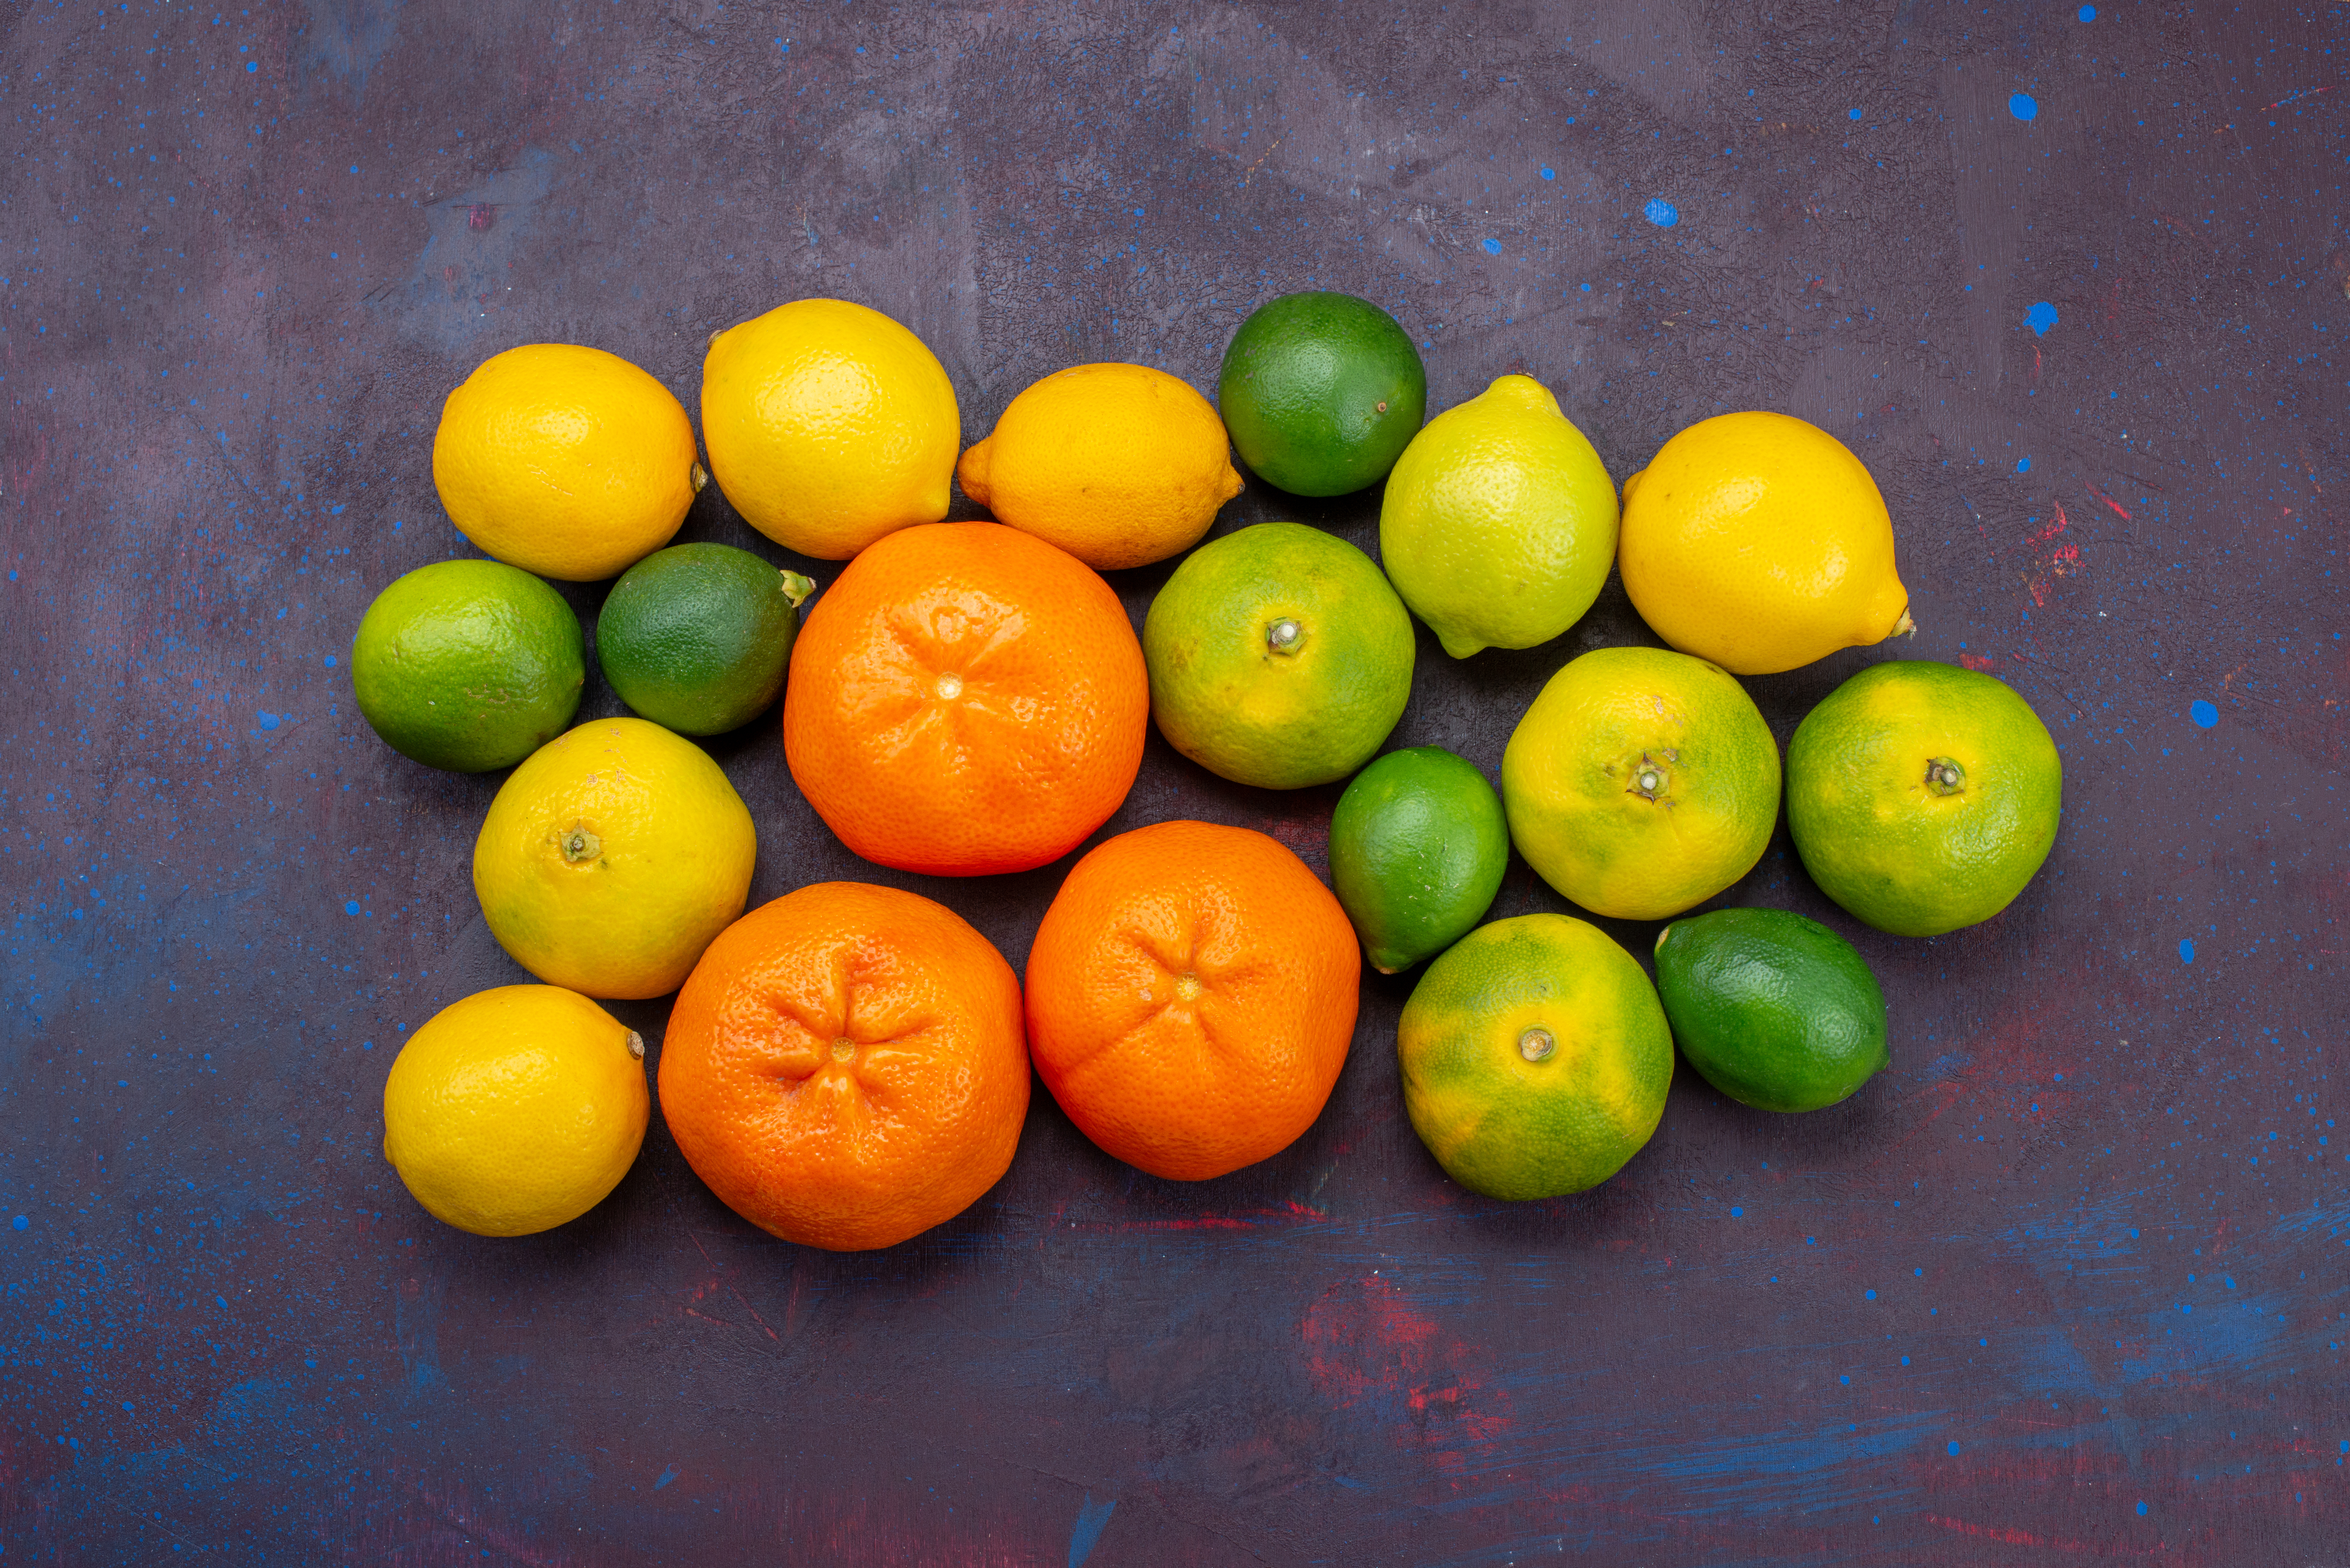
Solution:
<svg viewBox="0 0 2350 1568">
<path fill-rule="evenodd" d="M 1574 625 L 1614 548 L 1607 468 L 1532 376 L 1431 418 L 1386 475 L 1379 559 L 1452 658 Z"/>
</svg>

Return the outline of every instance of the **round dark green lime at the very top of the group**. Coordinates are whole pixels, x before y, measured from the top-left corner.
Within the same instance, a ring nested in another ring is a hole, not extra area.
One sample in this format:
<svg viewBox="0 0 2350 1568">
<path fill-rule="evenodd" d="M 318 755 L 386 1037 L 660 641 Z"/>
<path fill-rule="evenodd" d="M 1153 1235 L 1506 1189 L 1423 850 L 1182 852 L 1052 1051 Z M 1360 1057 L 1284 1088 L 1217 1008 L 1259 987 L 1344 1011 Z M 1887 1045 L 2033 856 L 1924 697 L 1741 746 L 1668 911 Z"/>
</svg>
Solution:
<svg viewBox="0 0 2350 1568">
<path fill-rule="evenodd" d="M 1419 433 L 1429 371 L 1396 317 L 1354 294 L 1283 294 L 1224 350 L 1215 402 L 1253 470 L 1295 496 L 1377 484 Z"/>
</svg>

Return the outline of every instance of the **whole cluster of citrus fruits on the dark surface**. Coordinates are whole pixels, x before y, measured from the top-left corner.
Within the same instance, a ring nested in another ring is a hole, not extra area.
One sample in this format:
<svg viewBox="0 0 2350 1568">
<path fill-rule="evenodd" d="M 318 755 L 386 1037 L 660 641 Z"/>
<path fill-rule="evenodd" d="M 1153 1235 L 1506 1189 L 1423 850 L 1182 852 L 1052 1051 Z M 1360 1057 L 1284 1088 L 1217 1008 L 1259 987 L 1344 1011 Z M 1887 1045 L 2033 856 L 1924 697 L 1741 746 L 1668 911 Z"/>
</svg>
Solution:
<svg viewBox="0 0 2350 1568">
<path fill-rule="evenodd" d="M 1582 1192 L 1657 1131 L 1676 1046 L 1774 1112 L 1887 1065 L 1885 997 L 1842 936 L 1690 914 L 1753 870 L 1781 799 L 1819 889 L 1899 936 L 1990 919 L 2047 858 L 2056 748 L 1988 675 L 1871 665 L 1781 766 L 1739 677 L 1913 630 L 1889 510 L 1824 430 L 1708 418 L 1619 491 L 1530 376 L 1426 418 L 1412 336 L 1330 292 L 1250 313 L 1215 393 L 1079 364 L 964 447 L 938 357 L 837 299 L 710 339 L 707 470 L 684 404 L 597 348 L 510 348 L 449 393 L 432 477 L 489 559 L 390 583 L 352 686 L 400 755 L 512 769 L 472 886 L 540 985 L 451 1004 L 392 1065 L 385 1157 L 418 1204 L 503 1237 L 602 1201 L 653 1095 L 644 1039 L 597 999 L 672 992 L 660 1114 L 724 1204 L 790 1241 L 895 1246 L 971 1208 L 1013 1164 L 1032 1070 L 1104 1157 L 1215 1180 L 1323 1117 L 1365 959 L 1424 964 L 1396 1058 L 1438 1166 L 1499 1199 Z M 1302 522 L 1208 538 L 1241 465 L 1295 496 L 1384 482 L 1379 559 Z M 792 559 L 672 543 L 712 477 Z M 947 522 L 954 484 L 994 520 Z M 1137 635 L 1100 574 L 1175 557 Z M 820 592 L 818 562 L 846 562 Z M 1666 646 L 1560 661 L 1499 790 L 1443 748 L 1382 755 L 1415 618 L 1450 658 L 1544 646 L 1610 569 Z M 588 635 L 548 578 L 611 583 L 597 668 L 634 717 L 573 726 Z M 1076 856 L 1027 973 L 895 886 L 745 912 L 759 825 L 693 738 L 761 719 L 874 865 Z M 1330 884 L 1248 827 L 1095 842 L 1152 726 L 1241 785 L 1344 780 Z M 1483 924 L 1511 853 L 1591 914 L 1668 922 L 1657 978 L 1586 919 Z"/>
</svg>

